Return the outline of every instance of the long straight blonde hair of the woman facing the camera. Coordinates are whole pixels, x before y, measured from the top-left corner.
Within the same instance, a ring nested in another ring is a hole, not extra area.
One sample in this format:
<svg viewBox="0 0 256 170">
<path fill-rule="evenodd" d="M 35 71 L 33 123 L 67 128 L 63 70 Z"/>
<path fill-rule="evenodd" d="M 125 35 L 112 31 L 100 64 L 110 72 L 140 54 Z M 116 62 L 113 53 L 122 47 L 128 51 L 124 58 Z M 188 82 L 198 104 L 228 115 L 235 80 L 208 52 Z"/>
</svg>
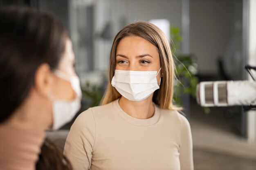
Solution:
<svg viewBox="0 0 256 170">
<path fill-rule="evenodd" d="M 117 33 L 110 51 L 109 81 L 106 92 L 101 100 L 101 105 L 108 104 L 119 97 L 120 93 L 111 85 L 110 81 L 115 73 L 116 49 L 121 39 L 129 36 L 139 36 L 151 42 L 159 51 L 162 79 L 160 88 L 154 92 L 153 102 L 160 108 L 180 110 L 173 105 L 173 81 L 175 66 L 171 54 L 170 44 L 164 33 L 154 24 L 139 21 L 125 26 Z"/>
</svg>

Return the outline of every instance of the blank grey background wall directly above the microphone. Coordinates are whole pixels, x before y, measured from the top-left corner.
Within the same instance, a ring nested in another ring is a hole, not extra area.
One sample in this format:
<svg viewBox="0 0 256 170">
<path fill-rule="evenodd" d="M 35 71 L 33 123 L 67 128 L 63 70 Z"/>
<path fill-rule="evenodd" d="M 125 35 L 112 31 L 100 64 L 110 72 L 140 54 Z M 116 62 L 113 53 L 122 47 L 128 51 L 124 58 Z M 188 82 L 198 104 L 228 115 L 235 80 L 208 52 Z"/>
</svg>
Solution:
<svg viewBox="0 0 256 170">
<path fill-rule="evenodd" d="M 190 0 L 190 51 L 199 73 L 217 75 L 220 57 L 231 79 L 241 79 L 242 0 Z"/>
</svg>

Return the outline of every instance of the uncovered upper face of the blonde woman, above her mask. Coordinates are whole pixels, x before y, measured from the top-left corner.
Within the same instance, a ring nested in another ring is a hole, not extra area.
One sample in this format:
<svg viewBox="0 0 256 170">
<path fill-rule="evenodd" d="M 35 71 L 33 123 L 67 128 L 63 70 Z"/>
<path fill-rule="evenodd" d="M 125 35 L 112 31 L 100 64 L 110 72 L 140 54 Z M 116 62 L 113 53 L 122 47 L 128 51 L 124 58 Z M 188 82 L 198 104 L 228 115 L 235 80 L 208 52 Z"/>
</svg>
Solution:
<svg viewBox="0 0 256 170">
<path fill-rule="evenodd" d="M 117 46 L 116 68 L 125 71 L 159 71 L 157 48 L 138 36 L 123 38 Z M 157 75 L 157 84 L 161 74 Z"/>
</svg>

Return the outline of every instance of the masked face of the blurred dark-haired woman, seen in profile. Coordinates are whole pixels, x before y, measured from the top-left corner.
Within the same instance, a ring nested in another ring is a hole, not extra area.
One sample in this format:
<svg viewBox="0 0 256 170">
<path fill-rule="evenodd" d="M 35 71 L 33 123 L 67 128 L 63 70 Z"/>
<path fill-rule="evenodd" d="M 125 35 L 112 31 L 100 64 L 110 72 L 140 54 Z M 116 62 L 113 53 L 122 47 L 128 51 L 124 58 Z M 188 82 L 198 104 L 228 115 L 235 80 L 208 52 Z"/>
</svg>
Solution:
<svg viewBox="0 0 256 170">
<path fill-rule="evenodd" d="M 79 77 L 74 70 L 74 61 L 72 42 L 67 39 L 58 69 L 53 71 L 54 80 L 51 94 L 48 95 L 52 101 L 52 130 L 71 121 L 81 108 L 82 92 Z"/>
</svg>

